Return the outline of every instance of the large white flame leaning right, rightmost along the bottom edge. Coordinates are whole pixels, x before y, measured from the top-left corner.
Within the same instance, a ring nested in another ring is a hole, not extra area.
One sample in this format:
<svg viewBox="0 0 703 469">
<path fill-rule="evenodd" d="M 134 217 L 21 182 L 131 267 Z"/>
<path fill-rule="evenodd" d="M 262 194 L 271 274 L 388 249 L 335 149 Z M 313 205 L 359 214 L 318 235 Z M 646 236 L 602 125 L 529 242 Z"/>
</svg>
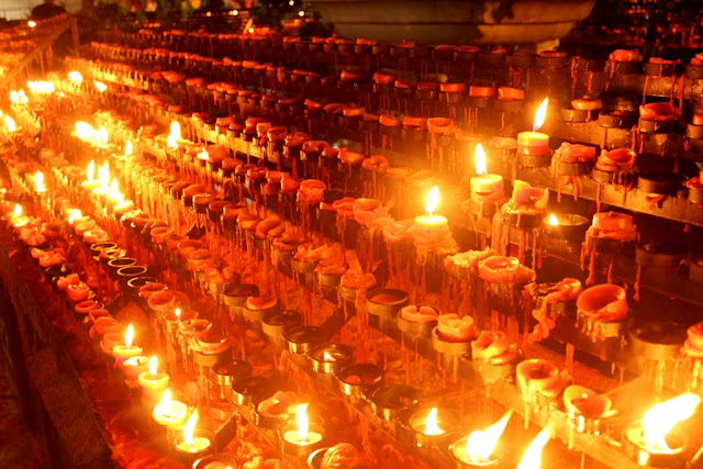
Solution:
<svg viewBox="0 0 703 469">
<path fill-rule="evenodd" d="M 666 436 L 681 421 L 689 418 L 701 403 L 696 394 L 685 393 L 651 407 L 641 420 L 647 449 L 670 450 Z"/>
</svg>

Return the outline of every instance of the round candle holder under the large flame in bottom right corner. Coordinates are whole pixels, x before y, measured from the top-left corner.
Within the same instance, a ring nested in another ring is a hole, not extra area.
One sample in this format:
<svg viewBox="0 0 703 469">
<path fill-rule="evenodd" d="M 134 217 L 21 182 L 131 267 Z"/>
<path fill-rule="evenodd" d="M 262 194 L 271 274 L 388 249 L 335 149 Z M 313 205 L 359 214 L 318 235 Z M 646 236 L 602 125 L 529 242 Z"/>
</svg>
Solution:
<svg viewBox="0 0 703 469">
<path fill-rule="evenodd" d="M 640 467 L 674 468 L 687 461 L 687 440 L 683 432 L 673 428 L 666 437 L 670 450 L 647 448 L 641 422 L 631 424 L 624 432 L 623 450 Z"/>
</svg>

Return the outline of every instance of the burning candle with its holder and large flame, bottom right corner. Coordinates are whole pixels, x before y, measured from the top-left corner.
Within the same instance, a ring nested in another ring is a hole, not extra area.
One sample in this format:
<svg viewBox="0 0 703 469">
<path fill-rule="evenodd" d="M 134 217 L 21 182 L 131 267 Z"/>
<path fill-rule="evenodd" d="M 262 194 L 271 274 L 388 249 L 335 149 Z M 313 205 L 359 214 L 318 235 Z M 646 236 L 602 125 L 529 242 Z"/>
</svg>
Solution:
<svg viewBox="0 0 703 469">
<path fill-rule="evenodd" d="M 625 453 L 640 466 L 679 467 L 685 460 L 685 440 L 674 427 L 700 403 L 698 394 L 685 393 L 652 406 L 641 422 L 625 429 Z"/>
</svg>

